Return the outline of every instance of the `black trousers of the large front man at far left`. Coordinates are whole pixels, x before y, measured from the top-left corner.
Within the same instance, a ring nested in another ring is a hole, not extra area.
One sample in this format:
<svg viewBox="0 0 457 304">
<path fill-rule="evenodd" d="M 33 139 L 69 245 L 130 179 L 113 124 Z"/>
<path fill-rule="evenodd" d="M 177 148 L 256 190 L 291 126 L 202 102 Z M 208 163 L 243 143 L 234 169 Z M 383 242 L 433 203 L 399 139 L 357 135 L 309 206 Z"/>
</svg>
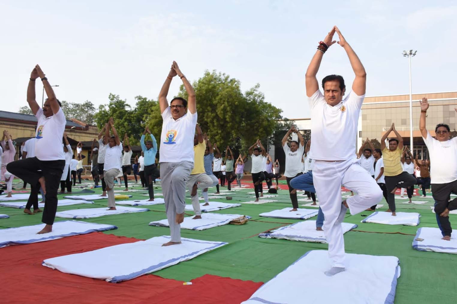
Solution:
<svg viewBox="0 0 457 304">
<path fill-rule="evenodd" d="M 38 207 L 38 192 L 40 183 L 38 179 L 44 176 L 46 183 L 46 203 L 44 205 L 42 222 L 48 225 L 54 223 L 57 211 L 57 191 L 60 177 L 64 171 L 65 160 L 38 160 L 36 157 L 26 158 L 25 160 L 12 161 L 6 165 L 6 170 L 16 175 L 21 180 L 27 181 L 32 187 L 29 200 L 30 206 Z M 41 171 L 39 171 L 41 170 Z M 29 202 L 27 201 L 27 205 Z M 30 209 L 30 206 L 28 209 Z M 34 207 L 35 208 L 35 207 Z"/>
</svg>

